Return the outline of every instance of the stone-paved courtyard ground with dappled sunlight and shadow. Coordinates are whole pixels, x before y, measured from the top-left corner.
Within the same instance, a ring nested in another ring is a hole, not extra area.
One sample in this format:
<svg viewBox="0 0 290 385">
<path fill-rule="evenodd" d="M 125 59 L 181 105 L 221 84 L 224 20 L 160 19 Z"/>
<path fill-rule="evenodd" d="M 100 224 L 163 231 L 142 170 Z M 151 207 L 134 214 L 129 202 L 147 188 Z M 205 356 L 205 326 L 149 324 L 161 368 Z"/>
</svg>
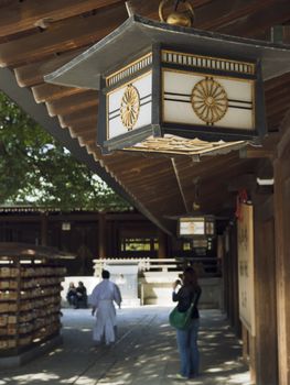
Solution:
<svg viewBox="0 0 290 385">
<path fill-rule="evenodd" d="M 217 310 L 201 311 L 201 376 L 182 381 L 171 308 L 144 306 L 118 310 L 118 341 L 95 348 L 90 310 L 64 309 L 64 344 L 19 369 L 1 370 L 0 385 L 249 385 L 240 344 Z"/>
</svg>

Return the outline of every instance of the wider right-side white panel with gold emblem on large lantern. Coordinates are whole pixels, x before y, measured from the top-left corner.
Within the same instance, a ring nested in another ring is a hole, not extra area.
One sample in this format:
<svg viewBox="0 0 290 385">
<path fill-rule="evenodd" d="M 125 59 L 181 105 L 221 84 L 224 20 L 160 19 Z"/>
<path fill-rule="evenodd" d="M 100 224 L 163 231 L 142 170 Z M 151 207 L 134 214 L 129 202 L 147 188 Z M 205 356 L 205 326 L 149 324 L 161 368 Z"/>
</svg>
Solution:
<svg viewBox="0 0 290 385">
<path fill-rule="evenodd" d="M 163 70 L 163 121 L 253 130 L 254 81 Z"/>
</svg>

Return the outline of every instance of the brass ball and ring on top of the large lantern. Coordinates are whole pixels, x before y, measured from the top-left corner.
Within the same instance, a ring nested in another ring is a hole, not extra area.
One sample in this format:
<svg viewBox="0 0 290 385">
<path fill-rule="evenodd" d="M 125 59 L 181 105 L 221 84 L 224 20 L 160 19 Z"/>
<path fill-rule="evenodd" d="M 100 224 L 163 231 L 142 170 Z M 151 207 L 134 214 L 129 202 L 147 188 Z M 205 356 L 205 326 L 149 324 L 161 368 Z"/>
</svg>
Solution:
<svg viewBox="0 0 290 385">
<path fill-rule="evenodd" d="M 178 11 L 180 2 L 184 3 L 185 10 Z M 194 20 L 194 11 L 193 7 L 187 0 L 176 0 L 174 12 L 170 13 L 167 18 L 164 16 L 163 8 L 169 0 L 162 0 L 159 4 L 159 18 L 163 23 L 168 23 L 171 25 L 180 25 L 180 26 L 192 26 Z"/>
</svg>

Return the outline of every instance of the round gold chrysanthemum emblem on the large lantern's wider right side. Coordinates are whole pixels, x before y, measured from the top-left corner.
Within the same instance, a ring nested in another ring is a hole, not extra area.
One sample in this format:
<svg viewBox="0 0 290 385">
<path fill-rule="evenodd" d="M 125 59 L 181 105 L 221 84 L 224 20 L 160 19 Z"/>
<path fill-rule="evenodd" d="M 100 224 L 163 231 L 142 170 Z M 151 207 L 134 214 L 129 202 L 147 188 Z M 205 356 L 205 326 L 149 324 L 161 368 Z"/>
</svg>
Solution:
<svg viewBox="0 0 290 385">
<path fill-rule="evenodd" d="M 205 78 L 194 86 L 191 101 L 196 116 L 207 124 L 221 120 L 228 108 L 224 87 L 213 78 Z"/>
</svg>

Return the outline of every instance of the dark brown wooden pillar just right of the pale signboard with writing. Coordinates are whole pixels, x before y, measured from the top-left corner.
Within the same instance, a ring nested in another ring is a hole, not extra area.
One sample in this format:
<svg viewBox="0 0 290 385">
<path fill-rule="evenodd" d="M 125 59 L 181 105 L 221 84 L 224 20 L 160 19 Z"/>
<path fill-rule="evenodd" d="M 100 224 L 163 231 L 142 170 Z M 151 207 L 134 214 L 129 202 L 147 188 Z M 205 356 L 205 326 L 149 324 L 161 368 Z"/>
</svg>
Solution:
<svg viewBox="0 0 290 385">
<path fill-rule="evenodd" d="M 278 385 L 276 253 L 272 194 L 254 196 L 255 337 L 250 365 L 256 384 Z"/>
</svg>

